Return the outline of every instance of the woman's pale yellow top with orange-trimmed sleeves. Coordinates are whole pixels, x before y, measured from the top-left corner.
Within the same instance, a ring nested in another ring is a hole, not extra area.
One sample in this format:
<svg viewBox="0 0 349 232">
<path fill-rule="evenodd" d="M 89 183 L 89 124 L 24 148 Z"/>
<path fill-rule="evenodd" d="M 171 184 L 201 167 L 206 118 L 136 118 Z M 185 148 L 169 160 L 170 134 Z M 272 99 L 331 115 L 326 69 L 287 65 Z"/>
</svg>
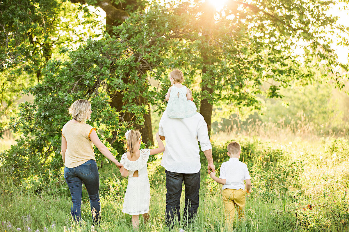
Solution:
<svg viewBox="0 0 349 232">
<path fill-rule="evenodd" d="M 84 122 L 68 121 L 62 128 L 62 136 L 67 141 L 64 166 L 75 168 L 86 161 L 96 160 L 93 144 L 90 139 L 92 130 L 96 128 Z"/>
</svg>

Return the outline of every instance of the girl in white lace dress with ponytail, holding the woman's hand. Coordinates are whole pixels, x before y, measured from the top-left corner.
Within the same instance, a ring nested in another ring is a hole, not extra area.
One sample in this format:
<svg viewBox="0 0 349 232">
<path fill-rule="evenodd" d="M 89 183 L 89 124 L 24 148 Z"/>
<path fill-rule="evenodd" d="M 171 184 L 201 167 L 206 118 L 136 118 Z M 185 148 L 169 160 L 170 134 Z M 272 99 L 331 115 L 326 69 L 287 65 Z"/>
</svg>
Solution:
<svg viewBox="0 0 349 232">
<path fill-rule="evenodd" d="M 121 156 L 120 163 L 124 167 L 120 168 L 120 173 L 122 177 L 128 176 L 128 182 L 122 212 L 132 215 L 132 226 L 138 228 L 139 215 L 143 214 L 144 223 L 149 217 L 150 185 L 147 161 L 149 155 L 161 153 L 165 151 L 165 147 L 159 133 L 156 133 L 159 144 L 156 149 L 140 149 L 141 134 L 138 130 L 127 130 L 125 137 L 128 152 Z"/>
</svg>

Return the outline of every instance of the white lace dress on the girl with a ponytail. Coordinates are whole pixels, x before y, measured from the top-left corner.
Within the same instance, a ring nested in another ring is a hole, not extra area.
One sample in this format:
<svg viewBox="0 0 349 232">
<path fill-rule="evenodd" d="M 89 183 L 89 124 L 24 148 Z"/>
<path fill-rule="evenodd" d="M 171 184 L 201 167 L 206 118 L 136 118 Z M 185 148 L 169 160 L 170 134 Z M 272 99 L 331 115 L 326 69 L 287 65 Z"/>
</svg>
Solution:
<svg viewBox="0 0 349 232">
<path fill-rule="evenodd" d="M 122 212 L 130 215 L 139 215 L 149 212 L 150 185 L 147 162 L 150 149 L 141 149 L 140 157 L 136 161 L 127 158 L 126 153 L 121 156 L 120 163 L 128 170 L 127 189 Z M 138 170 L 138 177 L 133 177 Z"/>
</svg>

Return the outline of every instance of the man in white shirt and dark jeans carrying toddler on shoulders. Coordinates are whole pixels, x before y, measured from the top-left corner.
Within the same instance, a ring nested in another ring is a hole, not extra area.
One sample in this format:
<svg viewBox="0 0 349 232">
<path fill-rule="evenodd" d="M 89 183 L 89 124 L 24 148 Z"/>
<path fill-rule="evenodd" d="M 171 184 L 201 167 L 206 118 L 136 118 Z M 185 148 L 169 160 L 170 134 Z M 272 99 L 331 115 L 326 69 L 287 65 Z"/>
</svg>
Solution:
<svg viewBox="0 0 349 232">
<path fill-rule="evenodd" d="M 208 173 L 215 171 L 207 123 L 200 113 L 189 118 L 169 118 L 164 111 L 159 123 L 159 135 L 166 138 L 161 165 L 166 173 L 166 224 L 179 222 L 182 183 L 185 186 L 184 219 L 191 222 L 199 207 L 200 155 L 199 145 L 208 161 Z"/>
</svg>

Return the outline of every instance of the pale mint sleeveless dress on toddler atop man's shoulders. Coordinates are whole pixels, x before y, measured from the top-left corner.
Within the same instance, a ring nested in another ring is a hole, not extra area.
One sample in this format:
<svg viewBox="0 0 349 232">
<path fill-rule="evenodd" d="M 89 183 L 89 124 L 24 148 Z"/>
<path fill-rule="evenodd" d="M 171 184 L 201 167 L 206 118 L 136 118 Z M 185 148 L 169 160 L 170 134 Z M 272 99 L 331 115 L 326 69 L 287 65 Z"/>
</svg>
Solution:
<svg viewBox="0 0 349 232">
<path fill-rule="evenodd" d="M 166 114 L 170 118 L 189 118 L 196 114 L 196 105 L 187 100 L 187 87 L 172 86 Z"/>
</svg>

